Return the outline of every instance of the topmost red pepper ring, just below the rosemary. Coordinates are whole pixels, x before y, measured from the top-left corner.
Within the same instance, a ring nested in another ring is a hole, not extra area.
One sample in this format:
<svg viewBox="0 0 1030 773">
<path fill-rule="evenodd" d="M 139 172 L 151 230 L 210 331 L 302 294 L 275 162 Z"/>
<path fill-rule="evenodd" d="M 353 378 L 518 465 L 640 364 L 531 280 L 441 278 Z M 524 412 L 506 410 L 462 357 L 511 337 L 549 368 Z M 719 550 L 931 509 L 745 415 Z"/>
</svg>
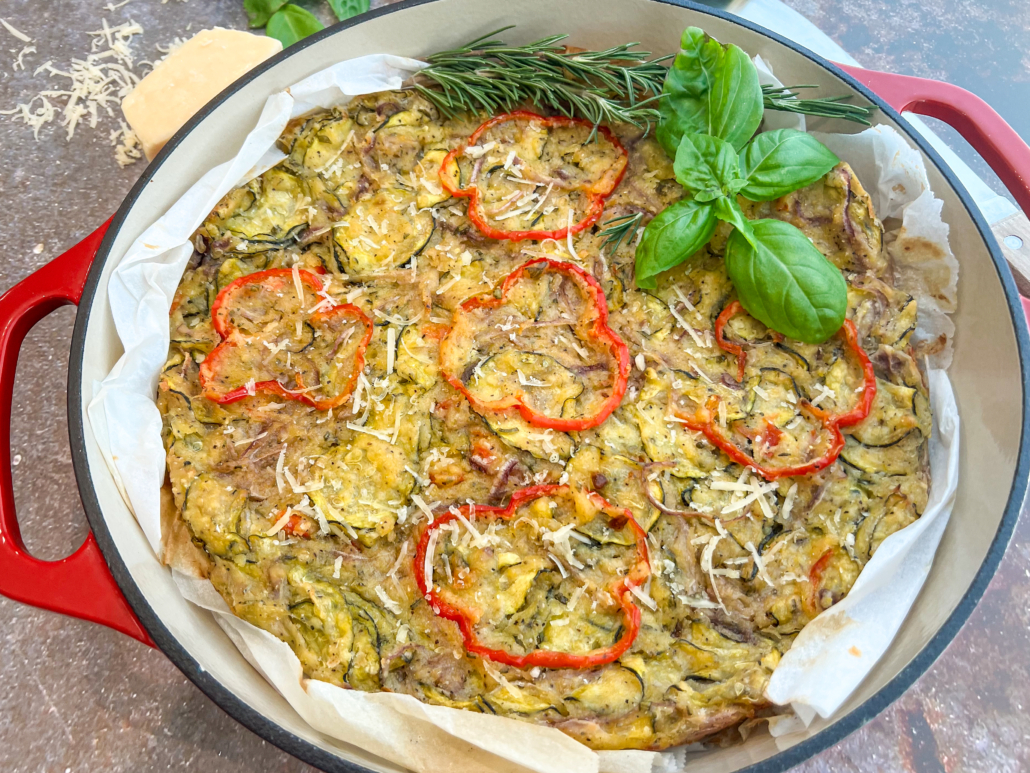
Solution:
<svg viewBox="0 0 1030 773">
<path fill-rule="evenodd" d="M 593 124 L 589 121 L 583 121 L 582 119 L 572 119 L 564 115 L 545 117 L 528 110 L 515 110 L 514 112 L 507 112 L 502 115 L 497 115 L 476 129 L 468 140 L 447 154 L 447 156 L 444 157 L 443 162 L 440 164 L 440 182 L 443 184 L 444 190 L 446 190 L 451 196 L 469 199 L 469 220 L 472 221 L 473 225 L 479 229 L 480 233 L 491 239 L 523 241 L 524 239 L 563 239 L 570 233 L 578 234 L 580 231 L 589 228 L 596 223 L 597 219 L 600 217 L 602 213 L 605 211 L 605 200 L 611 196 L 612 192 L 615 191 L 615 189 L 618 188 L 619 183 L 622 181 L 622 177 L 625 175 L 626 168 L 628 167 L 629 159 L 626 148 L 622 146 L 622 143 L 619 142 L 618 138 L 614 134 L 612 134 L 611 130 L 604 126 L 596 127 L 597 134 L 614 145 L 615 148 L 621 154 L 621 168 L 614 177 L 605 175 L 597 182 L 594 182 L 587 188 L 574 189 L 583 191 L 583 193 L 587 196 L 588 205 L 586 207 L 586 214 L 582 220 L 572 224 L 571 227 L 566 225 L 563 228 L 559 228 L 554 231 L 502 231 L 501 229 L 496 229 L 487 223 L 487 215 L 486 211 L 483 209 L 481 200 L 482 197 L 478 186 L 473 182 L 468 188 L 461 188 L 460 182 L 458 182 L 458 184 L 454 183 L 454 180 L 457 177 L 457 158 L 465 154 L 466 148 L 469 146 L 477 145 L 483 134 L 500 124 L 504 124 L 509 121 L 531 121 L 544 127 L 582 126 L 589 128 L 591 131 L 594 129 Z"/>
</svg>

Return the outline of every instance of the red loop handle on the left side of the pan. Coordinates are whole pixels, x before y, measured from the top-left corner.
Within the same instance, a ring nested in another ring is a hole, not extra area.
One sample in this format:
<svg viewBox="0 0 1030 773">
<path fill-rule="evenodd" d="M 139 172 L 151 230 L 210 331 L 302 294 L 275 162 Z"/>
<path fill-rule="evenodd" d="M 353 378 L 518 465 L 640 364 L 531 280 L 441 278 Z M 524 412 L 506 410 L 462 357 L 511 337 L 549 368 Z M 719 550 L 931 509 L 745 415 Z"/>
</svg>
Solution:
<svg viewBox="0 0 1030 773">
<path fill-rule="evenodd" d="M 90 534 L 75 552 L 40 561 L 25 548 L 14 512 L 10 414 L 14 370 L 26 334 L 61 306 L 78 304 L 110 221 L 0 296 L 0 594 L 52 612 L 99 623 L 153 646 Z"/>
</svg>

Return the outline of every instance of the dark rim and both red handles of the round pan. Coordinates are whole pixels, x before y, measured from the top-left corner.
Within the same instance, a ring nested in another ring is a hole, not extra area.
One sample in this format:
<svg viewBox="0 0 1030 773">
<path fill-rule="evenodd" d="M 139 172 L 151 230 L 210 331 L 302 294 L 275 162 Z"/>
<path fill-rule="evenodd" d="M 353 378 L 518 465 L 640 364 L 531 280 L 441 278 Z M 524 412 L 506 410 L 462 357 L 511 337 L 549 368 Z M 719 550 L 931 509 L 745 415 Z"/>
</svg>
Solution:
<svg viewBox="0 0 1030 773">
<path fill-rule="evenodd" d="M 681 5 L 700 13 L 731 21 L 733 24 L 759 32 L 793 48 L 850 82 L 857 93 L 865 96 L 902 126 L 904 126 L 904 122 L 898 113 L 903 111 L 930 115 L 947 122 L 957 129 L 984 157 L 1005 183 L 1022 209 L 1030 213 L 1030 147 L 997 112 L 975 95 L 958 87 L 935 80 L 834 65 L 784 38 L 728 14 L 696 6 L 686 0 L 657 1 Z M 181 141 L 182 137 L 215 106 L 251 78 L 274 66 L 283 58 L 301 54 L 305 47 L 327 35 L 360 24 L 368 19 L 397 12 L 423 2 L 426 0 L 409 0 L 366 14 L 358 20 L 337 25 L 307 39 L 304 43 L 291 46 L 287 52 L 248 73 L 218 95 L 199 115 L 183 127 L 161 157 L 144 173 L 127 199 L 127 205 L 138 195 L 142 186 L 152 177 L 154 169 Z M 937 162 L 939 167 L 943 166 L 933 150 L 921 140 L 918 133 L 909 131 L 908 134 L 927 156 Z M 959 192 L 974 221 L 981 226 L 980 230 L 988 242 L 1012 314 L 1023 311 L 1030 316 L 1030 301 L 1020 299 L 1017 295 L 1008 267 L 986 224 L 983 223 L 978 212 L 974 211 L 974 205 L 965 194 L 961 183 L 947 169 L 942 169 L 942 171 L 952 186 Z M 80 243 L 0 297 L 0 594 L 42 609 L 99 623 L 132 636 L 149 646 L 160 646 L 186 676 L 194 680 L 219 706 L 270 742 L 324 770 L 364 770 L 364 768 L 342 761 L 339 757 L 330 754 L 298 736 L 285 732 L 256 710 L 242 705 L 234 695 L 221 687 L 219 682 L 208 678 L 203 673 L 203 669 L 198 668 L 196 662 L 184 652 L 167 629 L 157 620 L 150 607 L 142 600 L 138 589 L 126 571 L 124 560 L 117 554 L 107 536 L 106 526 L 100 523 L 100 516 L 96 514 L 97 508 L 93 506 L 96 497 L 93 494 L 92 485 L 88 485 L 89 480 L 83 480 L 83 477 L 89 478 L 89 472 L 82 461 L 83 432 L 78 411 L 78 406 L 81 404 L 81 382 L 80 372 L 76 372 L 76 370 L 80 371 L 82 358 L 81 317 L 88 313 L 88 304 L 95 296 L 99 278 L 97 269 L 101 267 L 100 264 L 103 262 L 99 261 L 97 265 L 94 265 L 95 259 L 98 255 L 103 255 L 103 258 L 106 259 L 107 250 L 110 248 L 110 236 L 105 241 L 105 234 L 114 220 L 115 217 L 112 217 L 100 226 Z M 91 269 L 93 270 L 91 271 Z M 69 372 L 69 415 L 72 419 L 70 434 L 76 476 L 91 526 L 97 537 L 91 533 L 82 546 L 66 559 L 40 561 L 26 550 L 14 511 L 10 460 L 10 418 L 14 370 L 22 341 L 33 325 L 60 306 L 78 305 L 83 297 L 83 291 L 85 291 L 87 301 L 85 305 L 79 308 L 76 320 L 76 341 L 73 342 L 73 357 Z M 1022 309 L 1020 303 L 1022 303 Z M 1018 326 L 1017 338 L 1025 367 L 1026 363 L 1030 361 L 1030 338 L 1022 326 Z M 76 368 L 76 364 L 78 368 Z M 1024 384 L 1026 382 L 1024 371 Z M 1028 413 L 1026 401 L 1027 398 L 1024 395 L 1024 422 L 1026 422 Z M 1023 500 L 1028 466 L 1030 466 L 1026 440 L 1027 433 L 1024 430 L 1015 477 L 1016 482 L 991 549 L 962 602 L 922 652 L 859 709 L 852 711 L 813 738 L 757 763 L 747 770 L 783 771 L 835 743 L 898 698 L 954 638 L 980 600 L 988 581 L 994 575 L 1011 536 Z M 100 544 L 98 544 L 98 537 Z M 132 599 L 132 604 L 127 601 L 127 597 Z"/>
</svg>

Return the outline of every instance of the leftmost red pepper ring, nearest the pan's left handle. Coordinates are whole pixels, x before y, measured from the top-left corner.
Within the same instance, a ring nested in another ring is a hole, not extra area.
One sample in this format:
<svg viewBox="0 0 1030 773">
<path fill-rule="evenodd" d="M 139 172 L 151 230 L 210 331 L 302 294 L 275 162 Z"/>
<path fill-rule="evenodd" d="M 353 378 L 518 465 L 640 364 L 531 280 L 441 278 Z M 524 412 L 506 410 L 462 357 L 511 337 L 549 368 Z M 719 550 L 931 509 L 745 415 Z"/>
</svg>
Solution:
<svg viewBox="0 0 1030 773">
<path fill-rule="evenodd" d="M 351 304 L 337 304 L 329 308 L 316 311 L 308 316 L 306 322 L 317 327 L 320 324 L 333 322 L 342 317 L 351 317 L 365 328 L 365 334 L 357 343 L 356 352 L 352 363 L 351 373 L 348 376 L 343 389 L 335 397 L 317 400 L 306 390 L 300 371 L 296 373 L 297 389 L 286 388 L 278 379 L 268 379 L 254 381 L 253 383 L 236 386 L 226 390 L 225 384 L 219 381 L 225 369 L 230 364 L 231 358 L 238 356 L 238 349 L 249 343 L 249 337 L 243 334 L 236 325 L 233 324 L 231 313 L 233 301 L 242 293 L 245 293 L 253 285 L 259 285 L 259 292 L 266 292 L 271 295 L 269 303 L 274 307 L 277 299 L 281 297 L 282 291 L 294 291 L 295 281 L 299 280 L 312 291 L 313 295 L 323 292 L 324 285 L 318 277 L 311 271 L 288 268 L 274 268 L 268 271 L 258 271 L 253 274 L 241 276 L 227 284 L 211 306 L 211 324 L 215 332 L 221 337 L 221 343 L 214 347 L 200 366 L 200 383 L 204 389 L 204 397 L 222 405 L 235 403 L 246 397 L 251 397 L 258 392 L 265 392 L 278 395 L 286 400 L 297 400 L 307 405 L 311 405 L 319 410 L 329 410 L 342 405 L 350 397 L 357 382 L 357 375 L 365 368 L 365 350 L 369 341 L 372 340 L 374 330 L 372 321 L 357 306 Z"/>
</svg>

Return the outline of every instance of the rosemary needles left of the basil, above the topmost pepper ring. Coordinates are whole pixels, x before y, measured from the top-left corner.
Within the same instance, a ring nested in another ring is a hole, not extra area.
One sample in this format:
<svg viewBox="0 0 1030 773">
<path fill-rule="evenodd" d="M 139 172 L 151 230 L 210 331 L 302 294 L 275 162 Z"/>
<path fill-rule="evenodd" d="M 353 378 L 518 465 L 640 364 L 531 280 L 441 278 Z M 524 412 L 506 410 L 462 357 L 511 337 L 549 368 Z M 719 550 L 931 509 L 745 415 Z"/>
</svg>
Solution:
<svg viewBox="0 0 1030 773">
<path fill-rule="evenodd" d="M 468 45 L 427 58 L 414 88 L 447 116 L 495 113 L 524 102 L 597 124 L 632 124 L 647 129 L 658 121 L 670 57 L 649 59 L 637 43 L 605 51 L 566 51 L 568 35 L 526 45 L 508 45 L 491 32 Z"/>
</svg>

